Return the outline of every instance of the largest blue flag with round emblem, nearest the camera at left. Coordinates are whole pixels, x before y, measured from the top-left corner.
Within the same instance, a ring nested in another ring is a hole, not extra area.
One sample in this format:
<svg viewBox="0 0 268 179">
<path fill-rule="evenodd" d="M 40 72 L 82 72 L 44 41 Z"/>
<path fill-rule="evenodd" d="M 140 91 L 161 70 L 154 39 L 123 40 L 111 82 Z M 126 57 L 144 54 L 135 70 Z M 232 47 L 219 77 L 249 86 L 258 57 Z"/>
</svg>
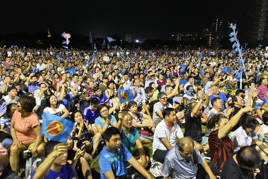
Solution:
<svg viewBox="0 0 268 179">
<path fill-rule="evenodd" d="M 60 116 L 44 112 L 42 114 L 43 124 L 41 125 L 41 135 L 49 140 L 65 143 L 75 126 L 70 120 Z"/>
</svg>

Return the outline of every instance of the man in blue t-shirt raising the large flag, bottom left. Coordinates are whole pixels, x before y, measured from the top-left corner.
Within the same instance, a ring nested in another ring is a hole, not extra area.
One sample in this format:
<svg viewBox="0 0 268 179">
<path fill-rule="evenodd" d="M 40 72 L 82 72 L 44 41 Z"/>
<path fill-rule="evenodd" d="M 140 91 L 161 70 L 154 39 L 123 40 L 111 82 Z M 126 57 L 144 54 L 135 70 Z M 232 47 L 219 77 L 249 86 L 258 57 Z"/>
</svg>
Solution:
<svg viewBox="0 0 268 179">
<path fill-rule="evenodd" d="M 71 164 L 67 162 L 68 144 L 50 140 L 44 150 L 47 158 L 32 174 L 31 179 L 76 179 Z"/>
</svg>

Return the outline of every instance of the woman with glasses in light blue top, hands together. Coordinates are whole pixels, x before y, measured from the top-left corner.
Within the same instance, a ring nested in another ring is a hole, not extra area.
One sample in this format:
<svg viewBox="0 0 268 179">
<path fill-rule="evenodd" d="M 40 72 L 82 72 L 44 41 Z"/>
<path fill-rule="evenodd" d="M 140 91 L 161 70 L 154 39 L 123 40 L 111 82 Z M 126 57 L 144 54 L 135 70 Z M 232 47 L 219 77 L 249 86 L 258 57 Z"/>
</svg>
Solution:
<svg viewBox="0 0 268 179">
<path fill-rule="evenodd" d="M 101 104 L 97 109 L 99 117 L 95 119 L 95 127 L 97 131 L 103 136 L 104 132 L 109 127 L 116 127 L 117 121 L 113 115 L 109 115 L 108 107 L 105 104 Z"/>
</svg>

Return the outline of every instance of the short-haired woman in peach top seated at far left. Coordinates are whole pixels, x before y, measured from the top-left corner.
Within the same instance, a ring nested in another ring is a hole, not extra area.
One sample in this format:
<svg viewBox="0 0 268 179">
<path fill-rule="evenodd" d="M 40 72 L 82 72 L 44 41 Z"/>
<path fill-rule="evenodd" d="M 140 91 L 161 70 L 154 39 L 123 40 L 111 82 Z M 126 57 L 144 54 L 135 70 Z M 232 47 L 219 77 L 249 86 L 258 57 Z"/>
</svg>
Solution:
<svg viewBox="0 0 268 179">
<path fill-rule="evenodd" d="M 10 166 L 18 172 L 20 152 L 28 148 L 33 157 L 44 157 L 44 142 L 42 142 L 41 128 L 38 116 L 33 112 L 36 106 L 35 98 L 22 96 L 17 104 L 11 121 L 10 133 L 13 144 L 10 149 Z"/>
</svg>

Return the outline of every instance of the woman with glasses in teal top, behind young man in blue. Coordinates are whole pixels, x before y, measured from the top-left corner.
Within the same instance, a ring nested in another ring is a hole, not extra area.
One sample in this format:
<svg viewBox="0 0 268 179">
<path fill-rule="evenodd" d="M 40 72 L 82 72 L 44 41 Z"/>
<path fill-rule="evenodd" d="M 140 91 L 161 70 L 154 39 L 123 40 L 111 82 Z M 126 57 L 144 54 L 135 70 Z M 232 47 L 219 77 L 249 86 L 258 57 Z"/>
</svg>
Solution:
<svg viewBox="0 0 268 179">
<path fill-rule="evenodd" d="M 120 113 L 118 114 L 118 117 L 120 116 L 118 120 L 118 130 L 121 133 L 121 143 L 127 147 L 129 152 L 142 164 L 143 167 L 147 167 L 150 158 L 145 155 L 138 130 L 132 126 L 132 122 L 135 120 L 133 120 L 132 116 L 127 112 L 123 112 L 123 117 L 121 117 Z M 135 146 L 137 146 L 137 152 L 135 152 Z M 130 168 L 131 165 L 126 162 L 126 167 Z"/>
</svg>

